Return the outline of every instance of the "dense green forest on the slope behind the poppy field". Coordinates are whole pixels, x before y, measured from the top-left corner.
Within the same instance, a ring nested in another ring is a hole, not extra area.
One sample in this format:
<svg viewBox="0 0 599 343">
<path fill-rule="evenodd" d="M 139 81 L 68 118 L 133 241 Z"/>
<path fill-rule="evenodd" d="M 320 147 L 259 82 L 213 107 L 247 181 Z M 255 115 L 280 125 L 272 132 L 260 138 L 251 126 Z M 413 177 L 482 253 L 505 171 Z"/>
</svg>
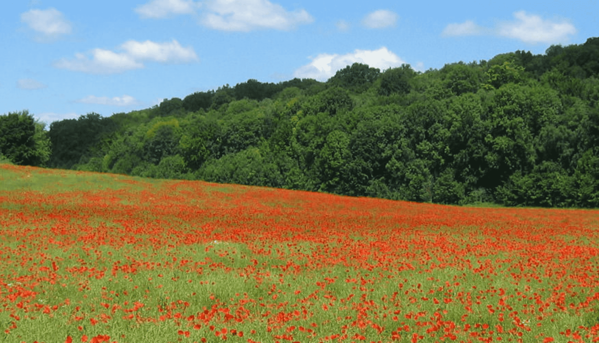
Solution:
<svg viewBox="0 0 599 343">
<path fill-rule="evenodd" d="M 416 72 L 361 63 L 49 128 L 0 116 L 0 160 L 466 205 L 599 208 L 599 37 Z"/>
</svg>

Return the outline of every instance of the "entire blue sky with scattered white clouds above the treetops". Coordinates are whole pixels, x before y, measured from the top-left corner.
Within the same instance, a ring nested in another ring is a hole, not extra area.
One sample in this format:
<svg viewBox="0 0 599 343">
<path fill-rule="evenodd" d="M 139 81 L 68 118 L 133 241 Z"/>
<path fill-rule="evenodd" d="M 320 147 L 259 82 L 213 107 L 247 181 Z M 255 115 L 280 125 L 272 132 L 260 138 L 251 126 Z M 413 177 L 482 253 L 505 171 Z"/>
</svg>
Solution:
<svg viewBox="0 0 599 343">
<path fill-rule="evenodd" d="M 489 60 L 599 35 L 582 1 L 8 1 L 0 11 L 0 114 L 47 124 L 141 110 L 255 78 L 326 81 L 354 62 Z"/>
</svg>

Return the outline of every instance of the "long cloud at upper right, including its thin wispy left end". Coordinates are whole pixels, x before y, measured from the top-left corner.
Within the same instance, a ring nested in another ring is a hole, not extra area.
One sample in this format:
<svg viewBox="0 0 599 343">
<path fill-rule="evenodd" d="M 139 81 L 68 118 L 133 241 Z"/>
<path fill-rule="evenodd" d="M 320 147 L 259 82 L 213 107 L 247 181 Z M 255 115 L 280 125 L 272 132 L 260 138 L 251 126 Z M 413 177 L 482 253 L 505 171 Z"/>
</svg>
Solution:
<svg viewBox="0 0 599 343">
<path fill-rule="evenodd" d="M 553 22 L 540 16 L 518 11 L 513 14 L 515 20 L 500 23 L 495 28 L 485 28 L 476 25 L 472 20 L 464 23 L 451 23 L 447 25 L 442 37 L 471 36 L 492 34 L 500 37 L 515 38 L 524 43 L 565 43 L 568 36 L 576 34 L 576 28 L 571 23 Z"/>
</svg>

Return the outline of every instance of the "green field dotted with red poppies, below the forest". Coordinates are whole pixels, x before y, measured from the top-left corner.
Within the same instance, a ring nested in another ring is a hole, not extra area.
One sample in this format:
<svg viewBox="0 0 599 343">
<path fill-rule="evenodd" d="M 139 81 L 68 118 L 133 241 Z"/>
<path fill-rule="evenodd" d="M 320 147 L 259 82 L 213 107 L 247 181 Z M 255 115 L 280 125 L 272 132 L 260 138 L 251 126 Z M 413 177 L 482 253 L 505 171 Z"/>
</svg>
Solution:
<svg viewBox="0 0 599 343">
<path fill-rule="evenodd" d="M 2 342 L 599 342 L 599 210 L 0 165 Z"/>
</svg>

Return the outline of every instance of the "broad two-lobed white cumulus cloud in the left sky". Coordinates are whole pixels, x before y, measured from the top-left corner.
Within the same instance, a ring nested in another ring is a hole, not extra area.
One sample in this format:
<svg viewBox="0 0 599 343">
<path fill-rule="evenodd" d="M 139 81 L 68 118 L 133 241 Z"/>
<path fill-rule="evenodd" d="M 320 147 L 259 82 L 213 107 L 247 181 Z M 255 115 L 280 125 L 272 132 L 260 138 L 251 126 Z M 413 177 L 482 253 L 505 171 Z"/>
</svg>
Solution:
<svg viewBox="0 0 599 343">
<path fill-rule="evenodd" d="M 198 60 L 192 47 L 181 47 L 173 40 L 166 43 L 152 41 L 126 41 L 120 45 L 122 52 L 95 48 L 91 56 L 76 53 L 74 59 L 62 58 L 53 65 L 60 69 L 81 71 L 89 74 L 116 74 L 131 69 L 144 68 L 146 60 L 161 63 L 186 63 Z"/>
</svg>

